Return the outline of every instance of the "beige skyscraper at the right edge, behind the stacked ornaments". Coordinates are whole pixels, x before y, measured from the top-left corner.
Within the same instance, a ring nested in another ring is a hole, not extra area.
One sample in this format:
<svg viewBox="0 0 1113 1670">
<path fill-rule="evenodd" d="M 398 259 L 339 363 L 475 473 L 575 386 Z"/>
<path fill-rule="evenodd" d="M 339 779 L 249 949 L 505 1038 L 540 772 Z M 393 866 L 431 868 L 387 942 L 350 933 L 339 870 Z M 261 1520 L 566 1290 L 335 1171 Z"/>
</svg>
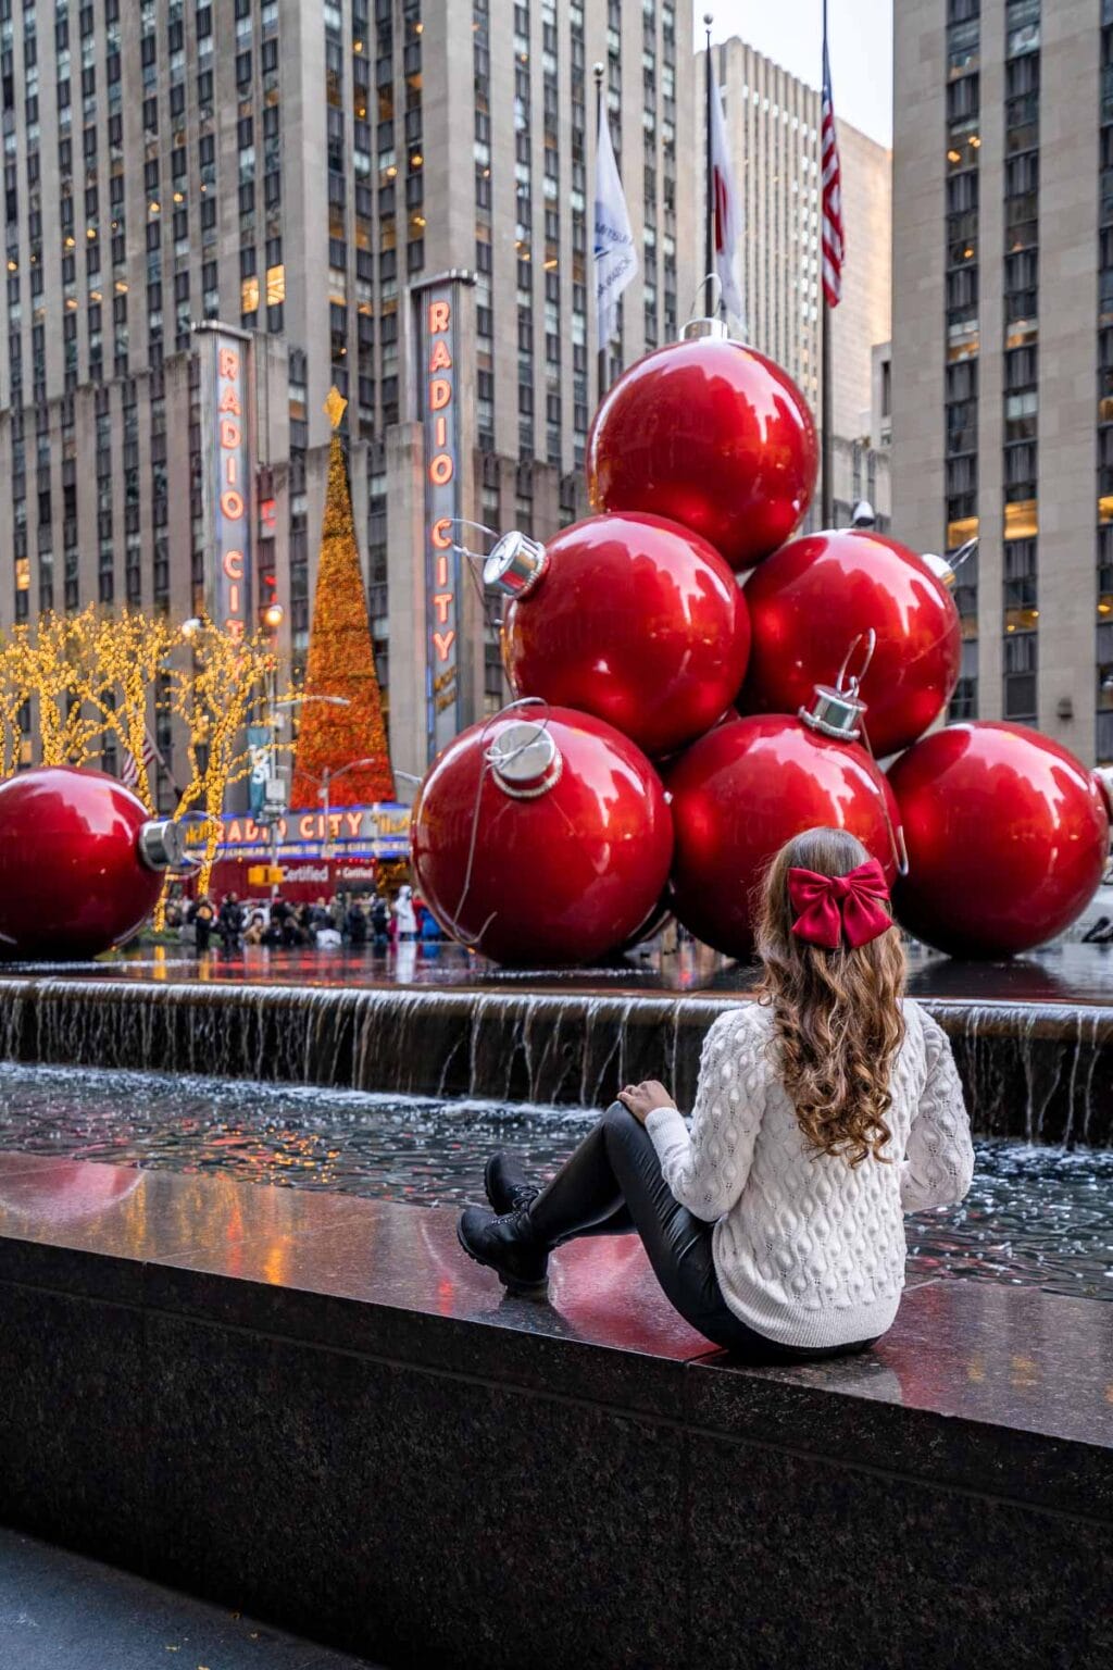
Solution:
<svg viewBox="0 0 1113 1670">
<path fill-rule="evenodd" d="M 896 0 L 893 494 L 959 718 L 1113 760 L 1113 3 Z"/>
</svg>

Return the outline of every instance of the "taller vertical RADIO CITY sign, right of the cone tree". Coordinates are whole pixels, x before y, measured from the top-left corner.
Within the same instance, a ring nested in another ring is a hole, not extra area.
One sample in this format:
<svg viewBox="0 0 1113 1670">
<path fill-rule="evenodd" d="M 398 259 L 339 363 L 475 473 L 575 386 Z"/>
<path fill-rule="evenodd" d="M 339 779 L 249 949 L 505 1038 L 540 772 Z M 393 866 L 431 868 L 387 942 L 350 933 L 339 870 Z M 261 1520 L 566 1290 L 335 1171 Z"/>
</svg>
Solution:
<svg viewBox="0 0 1113 1670">
<path fill-rule="evenodd" d="M 429 758 L 461 728 L 459 584 L 454 521 L 461 506 L 459 341 L 451 282 L 421 299 L 421 389 L 426 443 L 426 706 Z"/>
</svg>

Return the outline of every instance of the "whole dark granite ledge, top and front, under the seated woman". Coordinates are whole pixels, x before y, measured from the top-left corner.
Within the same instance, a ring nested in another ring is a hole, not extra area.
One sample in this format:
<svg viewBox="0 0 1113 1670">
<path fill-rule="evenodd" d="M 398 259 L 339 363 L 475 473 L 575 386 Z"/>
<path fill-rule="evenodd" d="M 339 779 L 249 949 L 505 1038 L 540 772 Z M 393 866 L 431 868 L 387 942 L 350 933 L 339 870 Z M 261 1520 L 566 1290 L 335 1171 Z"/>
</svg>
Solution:
<svg viewBox="0 0 1113 1670">
<path fill-rule="evenodd" d="M 1113 1662 L 1111 1321 L 934 1279 L 746 1369 L 632 1237 L 546 1306 L 451 1212 L 0 1156 L 0 1521 L 384 1665 Z"/>
</svg>

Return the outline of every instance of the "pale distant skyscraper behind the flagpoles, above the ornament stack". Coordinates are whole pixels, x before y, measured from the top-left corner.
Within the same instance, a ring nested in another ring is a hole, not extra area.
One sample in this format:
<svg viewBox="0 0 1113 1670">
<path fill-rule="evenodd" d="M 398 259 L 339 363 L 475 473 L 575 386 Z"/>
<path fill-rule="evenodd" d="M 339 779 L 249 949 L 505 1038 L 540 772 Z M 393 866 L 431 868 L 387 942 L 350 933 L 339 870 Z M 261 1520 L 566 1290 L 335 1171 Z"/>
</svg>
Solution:
<svg viewBox="0 0 1113 1670">
<path fill-rule="evenodd" d="M 738 38 L 713 47 L 711 63 L 743 200 L 748 337 L 791 372 L 818 411 L 819 89 Z M 699 53 L 699 90 L 704 75 Z M 836 438 L 849 446 L 869 436 L 871 351 L 889 337 L 891 154 L 841 120 L 838 107 L 836 122 L 846 262 L 833 312 L 833 414 Z"/>
</svg>

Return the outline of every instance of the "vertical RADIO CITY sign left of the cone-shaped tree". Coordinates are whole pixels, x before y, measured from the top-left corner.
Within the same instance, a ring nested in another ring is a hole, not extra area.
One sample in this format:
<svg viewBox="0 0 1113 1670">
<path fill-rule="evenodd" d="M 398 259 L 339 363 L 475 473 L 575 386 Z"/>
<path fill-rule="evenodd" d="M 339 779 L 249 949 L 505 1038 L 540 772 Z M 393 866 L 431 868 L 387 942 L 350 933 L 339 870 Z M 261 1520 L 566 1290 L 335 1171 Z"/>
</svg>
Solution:
<svg viewBox="0 0 1113 1670">
<path fill-rule="evenodd" d="M 230 636 L 252 628 L 252 453 L 249 412 L 250 341 L 217 326 L 205 331 L 202 401 L 209 426 L 205 469 L 210 558 L 209 615 Z"/>
</svg>

